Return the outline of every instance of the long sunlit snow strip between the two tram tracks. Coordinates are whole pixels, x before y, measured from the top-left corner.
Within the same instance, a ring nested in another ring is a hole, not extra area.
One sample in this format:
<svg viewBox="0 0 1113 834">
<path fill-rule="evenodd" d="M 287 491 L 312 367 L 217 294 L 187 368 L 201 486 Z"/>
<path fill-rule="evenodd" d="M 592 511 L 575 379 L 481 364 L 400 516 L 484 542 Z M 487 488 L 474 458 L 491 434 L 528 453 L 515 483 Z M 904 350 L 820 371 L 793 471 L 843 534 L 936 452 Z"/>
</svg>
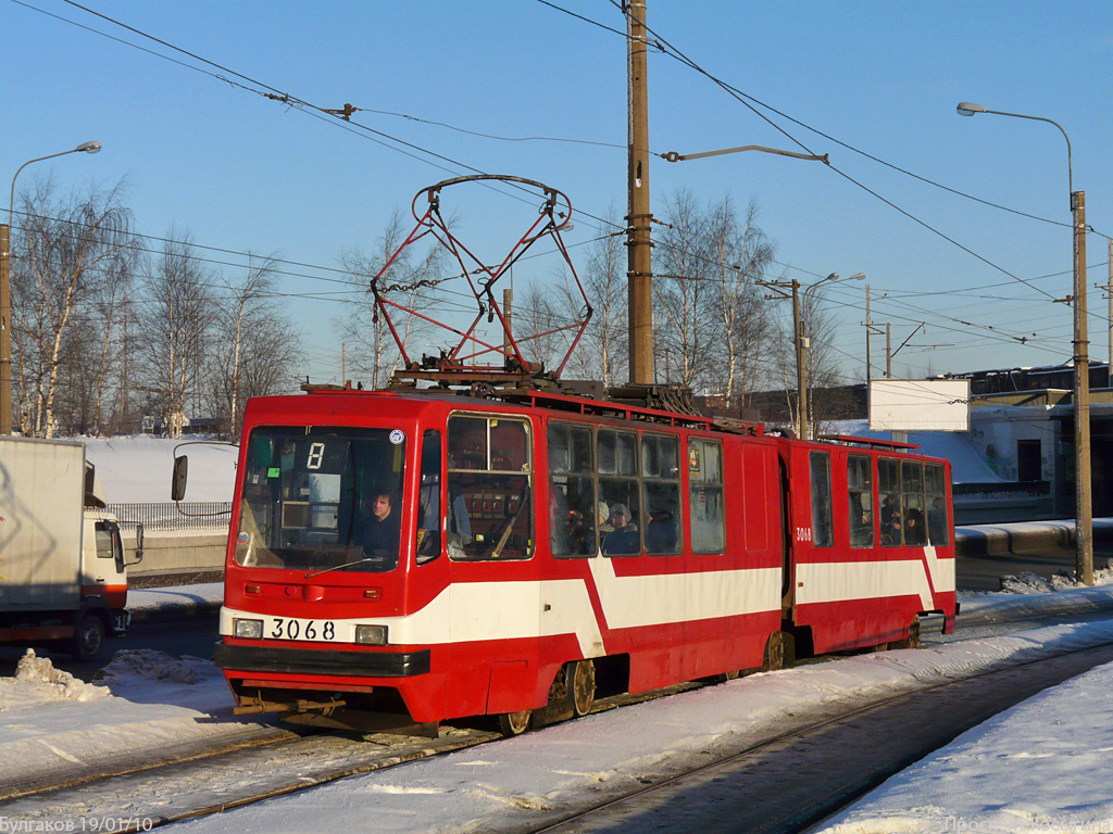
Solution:
<svg viewBox="0 0 1113 834">
<path fill-rule="evenodd" d="M 1113 638 L 1113 623 L 1056 626 L 1009 637 L 861 655 L 755 675 L 602 713 L 404 768 L 381 771 L 185 823 L 186 831 L 508 831 L 601 802 L 716 748 L 739 748 L 833 707 L 964 676 L 1048 649 Z M 1045 774 L 1053 780 L 1053 774 Z M 1094 785 L 1104 773 L 1093 773 Z M 1048 792 L 1053 805 L 1057 788 Z M 880 828 L 877 831 L 886 831 Z"/>
</svg>

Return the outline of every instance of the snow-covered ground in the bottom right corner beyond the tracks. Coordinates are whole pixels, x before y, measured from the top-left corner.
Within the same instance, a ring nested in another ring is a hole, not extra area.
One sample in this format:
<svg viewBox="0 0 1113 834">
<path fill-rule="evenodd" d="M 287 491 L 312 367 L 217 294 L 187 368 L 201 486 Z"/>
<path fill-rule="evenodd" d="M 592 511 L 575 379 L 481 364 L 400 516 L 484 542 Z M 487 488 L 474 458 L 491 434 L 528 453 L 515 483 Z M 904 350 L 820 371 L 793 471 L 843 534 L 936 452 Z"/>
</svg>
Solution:
<svg viewBox="0 0 1113 834">
<path fill-rule="evenodd" d="M 825 834 L 1107 832 L 1113 665 L 958 736 L 830 820 Z"/>
</svg>

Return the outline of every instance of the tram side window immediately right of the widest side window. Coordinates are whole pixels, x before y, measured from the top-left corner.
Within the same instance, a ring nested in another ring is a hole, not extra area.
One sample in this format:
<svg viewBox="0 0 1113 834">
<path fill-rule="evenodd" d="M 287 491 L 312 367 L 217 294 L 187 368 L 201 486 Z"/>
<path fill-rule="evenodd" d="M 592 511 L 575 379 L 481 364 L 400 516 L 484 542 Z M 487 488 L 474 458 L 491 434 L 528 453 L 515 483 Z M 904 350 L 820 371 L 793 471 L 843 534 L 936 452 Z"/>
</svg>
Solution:
<svg viewBox="0 0 1113 834">
<path fill-rule="evenodd" d="M 549 546 L 552 555 L 594 556 L 598 552 L 591 428 L 550 423 Z"/>
</svg>

